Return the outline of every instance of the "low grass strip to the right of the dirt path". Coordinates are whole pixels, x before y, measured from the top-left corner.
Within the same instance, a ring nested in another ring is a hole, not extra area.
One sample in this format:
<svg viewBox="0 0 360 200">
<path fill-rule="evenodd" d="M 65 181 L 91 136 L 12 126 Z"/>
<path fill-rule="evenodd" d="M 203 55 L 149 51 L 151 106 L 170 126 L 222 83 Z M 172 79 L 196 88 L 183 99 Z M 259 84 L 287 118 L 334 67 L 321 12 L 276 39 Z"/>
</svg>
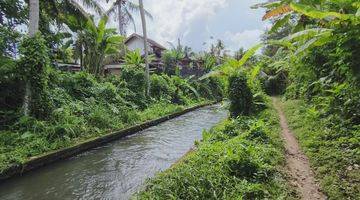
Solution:
<svg viewBox="0 0 360 200">
<path fill-rule="evenodd" d="M 331 124 L 329 117 L 300 100 L 288 100 L 284 108 L 328 198 L 360 199 L 359 127 Z"/>
</svg>

